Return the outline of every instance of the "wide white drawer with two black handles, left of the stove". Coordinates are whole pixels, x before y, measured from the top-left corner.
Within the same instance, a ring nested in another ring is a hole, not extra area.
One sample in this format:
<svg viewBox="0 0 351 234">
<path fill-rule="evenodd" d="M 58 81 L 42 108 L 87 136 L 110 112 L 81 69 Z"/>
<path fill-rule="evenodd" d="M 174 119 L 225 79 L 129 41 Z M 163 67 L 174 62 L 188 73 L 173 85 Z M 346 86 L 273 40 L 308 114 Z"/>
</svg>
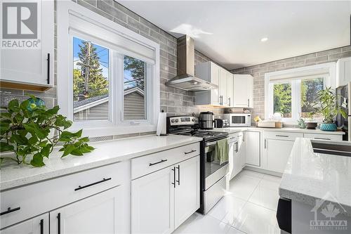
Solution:
<svg viewBox="0 0 351 234">
<path fill-rule="evenodd" d="M 151 155 L 131 160 L 131 178 L 138 178 L 153 171 L 171 166 L 200 154 L 200 144 L 193 143 L 171 150 L 156 152 Z"/>
</svg>

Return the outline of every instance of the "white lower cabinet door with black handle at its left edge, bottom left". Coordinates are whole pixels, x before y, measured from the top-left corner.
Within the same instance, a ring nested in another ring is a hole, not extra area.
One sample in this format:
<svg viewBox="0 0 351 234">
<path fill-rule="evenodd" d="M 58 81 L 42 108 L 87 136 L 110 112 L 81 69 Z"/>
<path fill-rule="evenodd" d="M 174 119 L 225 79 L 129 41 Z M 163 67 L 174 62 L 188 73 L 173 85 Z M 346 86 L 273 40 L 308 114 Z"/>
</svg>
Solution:
<svg viewBox="0 0 351 234">
<path fill-rule="evenodd" d="M 122 186 L 50 212 L 50 233 L 123 233 Z"/>
</svg>

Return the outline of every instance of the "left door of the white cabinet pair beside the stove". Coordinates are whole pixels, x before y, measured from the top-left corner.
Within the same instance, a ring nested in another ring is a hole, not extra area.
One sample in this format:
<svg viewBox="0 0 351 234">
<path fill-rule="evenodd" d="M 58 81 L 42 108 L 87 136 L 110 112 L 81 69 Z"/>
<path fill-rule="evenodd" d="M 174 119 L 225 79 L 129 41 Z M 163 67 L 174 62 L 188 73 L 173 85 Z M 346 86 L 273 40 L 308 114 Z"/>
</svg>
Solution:
<svg viewBox="0 0 351 234">
<path fill-rule="evenodd" d="M 131 182 L 131 233 L 173 232 L 174 170 L 167 167 Z"/>
</svg>

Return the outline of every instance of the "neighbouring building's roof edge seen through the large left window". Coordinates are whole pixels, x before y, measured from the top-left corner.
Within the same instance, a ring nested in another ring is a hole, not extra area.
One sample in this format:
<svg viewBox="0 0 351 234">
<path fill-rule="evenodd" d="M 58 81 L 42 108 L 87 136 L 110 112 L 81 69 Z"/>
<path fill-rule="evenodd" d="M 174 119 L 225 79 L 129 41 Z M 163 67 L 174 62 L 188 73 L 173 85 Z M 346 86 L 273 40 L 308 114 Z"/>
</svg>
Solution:
<svg viewBox="0 0 351 234">
<path fill-rule="evenodd" d="M 134 92 L 139 93 L 141 96 L 145 95 L 142 89 L 138 87 L 133 87 L 133 88 L 124 90 L 124 96 Z M 93 98 L 86 98 L 84 100 L 79 100 L 79 101 L 76 100 L 73 102 L 74 113 L 80 112 L 82 110 L 86 110 L 88 108 L 93 108 L 94 106 L 105 103 L 108 100 L 109 100 L 108 94 L 95 96 Z"/>
</svg>

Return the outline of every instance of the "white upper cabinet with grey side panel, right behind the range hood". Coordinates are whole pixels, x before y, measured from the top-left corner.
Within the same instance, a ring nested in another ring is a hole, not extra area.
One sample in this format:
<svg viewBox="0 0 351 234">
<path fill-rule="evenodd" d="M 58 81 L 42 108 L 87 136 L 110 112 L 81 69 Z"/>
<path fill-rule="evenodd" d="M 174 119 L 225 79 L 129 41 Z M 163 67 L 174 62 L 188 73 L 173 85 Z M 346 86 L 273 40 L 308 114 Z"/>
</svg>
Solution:
<svg viewBox="0 0 351 234">
<path fill-rule="evenodd" d="M 216 63 L 206 62 L 195 66 L 195 76 L 218 85 L 218 89 L 196 92 L 196 105 L 232 106 L 234 98 L 232 73 Z"/>
</svg>

